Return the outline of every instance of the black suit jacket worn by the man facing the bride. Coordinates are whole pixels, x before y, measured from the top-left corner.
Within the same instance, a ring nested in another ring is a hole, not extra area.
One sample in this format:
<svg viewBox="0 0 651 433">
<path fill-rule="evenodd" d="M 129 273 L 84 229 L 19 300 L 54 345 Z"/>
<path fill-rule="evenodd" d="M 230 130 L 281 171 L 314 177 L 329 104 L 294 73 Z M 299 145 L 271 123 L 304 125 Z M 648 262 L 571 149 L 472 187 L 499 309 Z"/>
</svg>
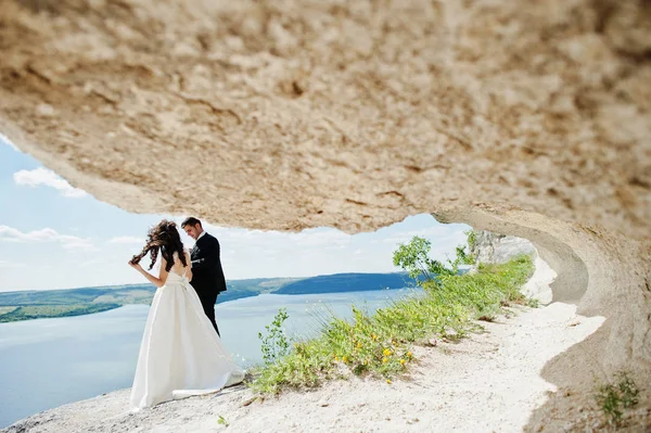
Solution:
<svg viewBox="0 0 651 433">
<path fill-rule="evenodd" d="M 215 296 L 226 291 L 226 279 L 219 259 L 219 241 L 208 233 L 201 237 L 190 251 L 192 281 L 200 297 Z"/>
</svg>

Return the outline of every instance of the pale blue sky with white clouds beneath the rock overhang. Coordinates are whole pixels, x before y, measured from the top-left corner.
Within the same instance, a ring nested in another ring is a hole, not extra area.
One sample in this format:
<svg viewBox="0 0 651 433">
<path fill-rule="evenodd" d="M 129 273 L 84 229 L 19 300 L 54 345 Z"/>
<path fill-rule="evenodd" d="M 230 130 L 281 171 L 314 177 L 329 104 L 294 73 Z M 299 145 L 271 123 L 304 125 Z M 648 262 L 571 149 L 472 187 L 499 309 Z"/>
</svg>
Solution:
<svg viewBox="0 0 651 433">
<path fill-rule="evenodd" d="M 126 263 L 164 217 L 183 219 L 100 202 L 0 135 L 0 292 L 144 282 Z M 227 279 L 396 271 L 392 253 L 400 242 L 423 235 L 433 243 L 432 257 L 441 259 L 464 242 L 469 229 L 430 215 L 355 235 L 332 228 L 285 233 L 204 227 L 221 243 Z M 192 246 L 192 239 L 182 239 Z"/>
</svg>

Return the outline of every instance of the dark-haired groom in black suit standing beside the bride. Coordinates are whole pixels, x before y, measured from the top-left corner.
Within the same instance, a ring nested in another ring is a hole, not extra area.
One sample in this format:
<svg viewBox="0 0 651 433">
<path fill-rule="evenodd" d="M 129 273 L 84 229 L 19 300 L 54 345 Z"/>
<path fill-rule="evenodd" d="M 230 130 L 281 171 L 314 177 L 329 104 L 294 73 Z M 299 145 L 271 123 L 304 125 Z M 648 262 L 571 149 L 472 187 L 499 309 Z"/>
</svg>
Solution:
<svg viewBox="0 0 651 433">
<path fill-rule="evenodd" d="M 186 233 L 194 239 L 194 246 L 190 252 L 192 259 L 192 281 L 190 284 L 196 291 L 204 313 L 210 319 L 217 335 L 217 322 L 215 321 L 215 303 L 217 295 L 226 291 L 226 279 L 219 260 L 219 241 L 217 238 L 206 233 L 201 221 L 194 217 L 189 217 L 181 222 L 181 228 Z"/>
</svg>

